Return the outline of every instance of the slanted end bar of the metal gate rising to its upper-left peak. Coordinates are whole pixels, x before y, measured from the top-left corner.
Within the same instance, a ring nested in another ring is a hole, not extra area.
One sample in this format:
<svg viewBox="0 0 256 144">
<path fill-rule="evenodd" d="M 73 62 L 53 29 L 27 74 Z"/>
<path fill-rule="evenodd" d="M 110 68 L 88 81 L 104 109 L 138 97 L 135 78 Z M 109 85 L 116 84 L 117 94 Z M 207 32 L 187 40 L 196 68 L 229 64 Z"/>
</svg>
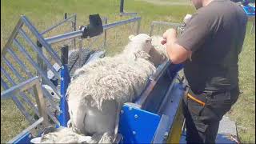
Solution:
<svg viewBox="0 0 256 144">
<path fill-rule="evenodd" d="M 10 37 L 8 39 L 8 41 L 6 42 L 6 45 L 3 47 L 3 50 L 2 50 L 2 53 L 1 55 L 6 55 L 6 49 L 8 49 L 13 41 L 13 39 L 16 37 L 16 35 L 18 34 L 18 29 L 20 27 L 22 27 L 23 25 L 23 22 L 22 22 L 22 18 L 20 18 L 18 20 L 18 23 L 16 24 L 16 26 L 14 27 L 14 30 L 11 32 L 10 34 Z M 2 60 L 2 57 L 1 57 L 1 60 Z"/>
</svg>

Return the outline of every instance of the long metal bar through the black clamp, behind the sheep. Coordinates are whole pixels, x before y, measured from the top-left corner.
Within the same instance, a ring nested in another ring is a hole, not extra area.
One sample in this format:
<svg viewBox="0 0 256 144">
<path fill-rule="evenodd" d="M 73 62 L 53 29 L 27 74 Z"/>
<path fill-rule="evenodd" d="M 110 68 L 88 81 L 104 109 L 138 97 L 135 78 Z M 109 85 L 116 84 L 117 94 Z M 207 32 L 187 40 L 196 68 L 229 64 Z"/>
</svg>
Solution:
<svg viewBox="0 0 256 144">
<path fill-rule="evenodd" d="M 108 30 L 108 29 L 111 29 L 115 26 L 122 26 L 122 25 L 125 25 L 125 24 L 130 23 L 130 22 L 137 22 L 141 19 L 142 18 L 140 18 L 140 17 L 136 17 L 136 18 L 130 18 L 130 19 L 127 19 L 127 20 L 119 21 L 119 22 L 110 23 L 110 24 L 104 25 L 103 30 Z M 56 43 L 56 42 L 65 41 L 65 40 L 70 39 L 70 38 L 77 38 L 77 37 L 80 37 L 80 36 L 82 36 L 82 30 L 73 31 L 73 32 L 70 32 L 70 33 L 61 34 L 61 35 L 57 35 L 57 36 L 50 37 L 50 38 L 45 38 L 45 41 L 49 44 L 53 44 L 53 43 Z"/>
</svg>

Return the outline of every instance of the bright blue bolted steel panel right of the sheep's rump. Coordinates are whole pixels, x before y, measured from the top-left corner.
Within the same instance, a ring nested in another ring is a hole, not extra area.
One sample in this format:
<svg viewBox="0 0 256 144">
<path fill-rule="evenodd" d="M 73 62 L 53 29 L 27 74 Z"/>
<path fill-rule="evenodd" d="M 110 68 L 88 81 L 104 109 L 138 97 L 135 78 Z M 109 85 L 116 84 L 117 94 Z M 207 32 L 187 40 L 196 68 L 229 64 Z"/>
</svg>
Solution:
<svg viewBox="0 0 256 144">
<path fill-rule="evenodd" d="M 158 114 L 125 104 L 119 121 L 119 134 L 123 143 L 150 143 L 160 122 Z"/>
</svg>

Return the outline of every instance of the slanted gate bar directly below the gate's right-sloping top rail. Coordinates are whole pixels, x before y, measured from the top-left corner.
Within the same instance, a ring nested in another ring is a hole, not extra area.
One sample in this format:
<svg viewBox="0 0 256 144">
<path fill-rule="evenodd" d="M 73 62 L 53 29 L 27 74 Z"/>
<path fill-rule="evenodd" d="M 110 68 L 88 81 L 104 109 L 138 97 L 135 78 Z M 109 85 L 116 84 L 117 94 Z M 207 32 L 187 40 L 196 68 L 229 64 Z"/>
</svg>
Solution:
<svg viewBox="0 0 256 144">
<path fill-rule="evenodd" d="M 30 44 L 30 46 L 32 47 L 32 49 L 37 52 L 38 56 L 39 56 L 40 58 L 42 58 L 43 62 L 46 63 L 46 65 L 47 65 L 47 66 L 50 68 L 50 70 L 55 74 L 55 76 L 57 76 L 58 78 L 60 78 L 58 72 L 57 72 L 57 71 L 54 69 L 54 67 L 50 64 L 50 62 L 48 61 L 48 59 L 42 54 L 42 51 L 38 50 L 38 46 L 36 46 L 36 45 L 34 44 L 34 42 L 32 42 L 31 39 L 30 39 L 29 37 L 27 37 L 26 32 L 25 32 L 24 30 L 18 30 L 18 32 L 19 32 L 20 34 L 22 34 L 23 38 L 26 39 L 26 42 L 28 42 L 28 43 Z"/>
</svg>

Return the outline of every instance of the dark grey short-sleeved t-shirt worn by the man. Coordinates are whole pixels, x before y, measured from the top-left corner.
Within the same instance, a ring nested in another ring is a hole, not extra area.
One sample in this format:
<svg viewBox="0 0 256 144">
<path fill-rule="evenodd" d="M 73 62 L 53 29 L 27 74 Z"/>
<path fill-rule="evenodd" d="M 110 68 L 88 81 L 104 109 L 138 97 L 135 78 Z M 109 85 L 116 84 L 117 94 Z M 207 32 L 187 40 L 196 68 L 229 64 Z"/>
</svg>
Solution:
<svg viewBox="0 0 256 144">
<path fill-rule="evenodd" d="M 178 44 L 192 51 L 184 74 L 194 93 L 238 86 L 238 54 L 246 23 L 242 7 L 230 0 L 214 0 L 193 14 Z"/>
</svg>

